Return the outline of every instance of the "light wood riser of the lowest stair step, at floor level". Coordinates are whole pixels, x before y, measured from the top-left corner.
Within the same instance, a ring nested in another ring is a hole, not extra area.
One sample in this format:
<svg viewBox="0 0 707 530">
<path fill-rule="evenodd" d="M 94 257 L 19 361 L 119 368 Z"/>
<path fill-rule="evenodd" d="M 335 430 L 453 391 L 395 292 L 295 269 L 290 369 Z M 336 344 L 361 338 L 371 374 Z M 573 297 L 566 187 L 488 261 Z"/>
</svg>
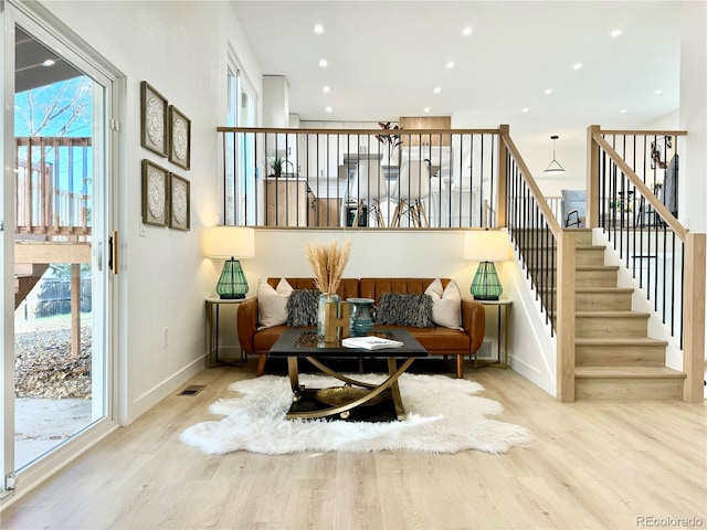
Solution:
<svg viewBox="0 0 707 530">
<path fill-rule="evenodd" d="M 577 379 L 576 400 L 682 400 L 682 379 Z"/>
</svg>

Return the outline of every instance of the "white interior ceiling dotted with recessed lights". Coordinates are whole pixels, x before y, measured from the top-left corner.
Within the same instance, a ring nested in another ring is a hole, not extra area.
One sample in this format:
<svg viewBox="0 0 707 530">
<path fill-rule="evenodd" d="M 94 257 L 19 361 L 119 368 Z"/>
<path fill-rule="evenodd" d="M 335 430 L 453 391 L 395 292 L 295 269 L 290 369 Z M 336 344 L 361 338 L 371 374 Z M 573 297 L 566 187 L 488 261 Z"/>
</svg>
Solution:
<svg viewBox="0 0 707 530">
<path fill-rule="evenodd" d="M 455 127 L 531 121 L 558 132 L 637 127 L 678 109 L 676 1 L 232 3 L 263 74 L 287 77 L 302 120 L 453 115 Z"/>
</svg>

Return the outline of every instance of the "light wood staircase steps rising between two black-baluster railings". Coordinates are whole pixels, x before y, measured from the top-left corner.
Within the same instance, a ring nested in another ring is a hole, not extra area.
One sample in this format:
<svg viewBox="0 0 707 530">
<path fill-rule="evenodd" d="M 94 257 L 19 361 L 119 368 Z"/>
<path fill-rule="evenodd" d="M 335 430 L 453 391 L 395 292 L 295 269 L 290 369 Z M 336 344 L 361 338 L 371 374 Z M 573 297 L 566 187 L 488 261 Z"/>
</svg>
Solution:
<svg viewBox="0 0 707 530">
<path fill-rule="evenodd" d="M 665 367 L 667 342 L 647 336 L 648 314 L 632 310 L 591 230 L 577 231 L 576 400 L 682 400 L 685 374 Z"/>
</svg>

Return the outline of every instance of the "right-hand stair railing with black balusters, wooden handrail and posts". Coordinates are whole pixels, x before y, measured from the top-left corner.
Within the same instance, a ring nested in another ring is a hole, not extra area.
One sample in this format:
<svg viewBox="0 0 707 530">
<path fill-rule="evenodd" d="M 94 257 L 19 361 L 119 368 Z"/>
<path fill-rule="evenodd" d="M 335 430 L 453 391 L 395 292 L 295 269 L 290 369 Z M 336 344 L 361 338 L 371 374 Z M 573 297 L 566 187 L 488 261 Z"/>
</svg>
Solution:
<svg viewBox="0 0 707 530">
<path fill-rule="evenodd" d="M 685 131 L 588 128 L 587 225 L 601 227 L 683 350 L 683 399 L 703 401 L 705 234 L 676 219 Z M 621 152 L 619 152 L 621 151 Z M 674 192 L 674 194 L 673 194 Z M 659 195 L 659 197 L 658 197 Z"/>
</svg>

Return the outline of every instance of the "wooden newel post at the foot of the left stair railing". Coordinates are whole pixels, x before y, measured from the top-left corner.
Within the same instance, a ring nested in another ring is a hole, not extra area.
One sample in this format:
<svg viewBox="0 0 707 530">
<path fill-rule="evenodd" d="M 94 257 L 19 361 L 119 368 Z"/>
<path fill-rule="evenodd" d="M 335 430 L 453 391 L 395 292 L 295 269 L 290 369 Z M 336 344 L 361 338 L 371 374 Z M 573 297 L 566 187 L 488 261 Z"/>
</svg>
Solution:
<svg viewBox="0 0 707 530">
<path fill-rule="evenodd" d="M 574 401 L 574 292 L 577 235 L 571 230 L 560 231 L 557 240 L 557 399 L 563 403 Z"/>
</svg>

